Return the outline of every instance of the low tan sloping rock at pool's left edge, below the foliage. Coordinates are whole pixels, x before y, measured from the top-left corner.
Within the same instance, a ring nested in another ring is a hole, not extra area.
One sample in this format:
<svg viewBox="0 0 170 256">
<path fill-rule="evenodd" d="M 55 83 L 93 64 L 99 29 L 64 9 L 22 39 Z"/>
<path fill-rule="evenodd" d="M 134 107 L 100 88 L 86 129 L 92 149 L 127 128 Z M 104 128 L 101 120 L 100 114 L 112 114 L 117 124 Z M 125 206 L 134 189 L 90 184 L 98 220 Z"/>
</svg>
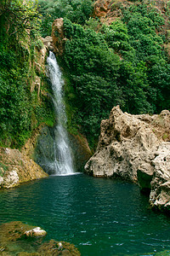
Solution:
<svg viewBox="0 0 170 256">
<path fill-rule="evenodd" d="M 0 148 L 0 189 L 10 189 L 30 180 L 48 177 L 33 160 L 18 149 Z"/>
</svg>

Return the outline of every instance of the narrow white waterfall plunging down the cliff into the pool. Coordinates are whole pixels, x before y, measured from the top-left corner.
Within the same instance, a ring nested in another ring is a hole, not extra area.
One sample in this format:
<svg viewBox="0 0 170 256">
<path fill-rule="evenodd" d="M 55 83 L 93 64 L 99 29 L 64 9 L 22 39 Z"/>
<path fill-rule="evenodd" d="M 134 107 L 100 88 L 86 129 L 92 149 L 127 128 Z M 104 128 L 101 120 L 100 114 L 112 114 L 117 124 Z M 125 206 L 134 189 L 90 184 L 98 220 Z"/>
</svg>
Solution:
<svg viewBox="0 0 170 256">
<path fill-rule="evenodd" d="M 59 70 L 59 65 L 55 59 L 54 53 L 49 52 L 47 63 L 48 78 L 50 79 L 53 90 L 52 100 L 54 102 L 57 124 L 54 126 L 54 160 L 50 160 L 50 162 L 46 161 L 46 165 L 48 166 L 48 169 L 52 170 L 52 173 L 66 175 L 74 173 L 74 168 L 71 158 L 69 138 L 65 129 L 67 119 L 62 92 L 64 80 L 62 79 L 62 74 Z"/>
</svg>

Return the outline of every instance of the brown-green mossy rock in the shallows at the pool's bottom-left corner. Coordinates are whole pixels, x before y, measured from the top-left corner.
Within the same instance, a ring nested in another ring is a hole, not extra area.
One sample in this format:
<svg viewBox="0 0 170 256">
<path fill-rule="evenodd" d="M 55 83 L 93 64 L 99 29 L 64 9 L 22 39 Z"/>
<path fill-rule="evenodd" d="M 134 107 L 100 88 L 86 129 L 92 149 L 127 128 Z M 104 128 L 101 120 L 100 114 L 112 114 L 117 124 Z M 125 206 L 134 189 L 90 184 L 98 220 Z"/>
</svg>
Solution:
<svg viewBox="0 0 170 256">
<path fill-rule="evenodd" d="M 3 256 L 80 255 L 77 248 L 68 242 L 54 240 L 43 242 L 43 237 L 39 236 L 40 233 L 45 234 L 46 231 L 39 227 L 33 228 L 20 221 L 2 224 L 0 226 L 0 254 Z M 29 234 L 29 238 L 26 234 Z"/>
</svg>

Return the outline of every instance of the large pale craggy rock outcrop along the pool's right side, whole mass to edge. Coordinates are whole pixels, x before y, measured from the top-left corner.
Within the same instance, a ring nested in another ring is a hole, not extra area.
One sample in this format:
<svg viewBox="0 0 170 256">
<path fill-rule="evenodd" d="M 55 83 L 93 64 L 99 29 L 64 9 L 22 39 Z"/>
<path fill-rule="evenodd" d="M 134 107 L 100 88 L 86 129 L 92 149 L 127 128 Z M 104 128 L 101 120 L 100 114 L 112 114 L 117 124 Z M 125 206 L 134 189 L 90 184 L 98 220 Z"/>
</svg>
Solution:
<svg viewBox="0 0 170 256">
<path fill-rule="evenodd" d="M 170 112 L 122 113 L 119 106 L 101 122 L 99 143 L 85 172 L 94 177 L 121 177 L 150 193 L 150 205 L 170 209 Z"/>
</svg>

